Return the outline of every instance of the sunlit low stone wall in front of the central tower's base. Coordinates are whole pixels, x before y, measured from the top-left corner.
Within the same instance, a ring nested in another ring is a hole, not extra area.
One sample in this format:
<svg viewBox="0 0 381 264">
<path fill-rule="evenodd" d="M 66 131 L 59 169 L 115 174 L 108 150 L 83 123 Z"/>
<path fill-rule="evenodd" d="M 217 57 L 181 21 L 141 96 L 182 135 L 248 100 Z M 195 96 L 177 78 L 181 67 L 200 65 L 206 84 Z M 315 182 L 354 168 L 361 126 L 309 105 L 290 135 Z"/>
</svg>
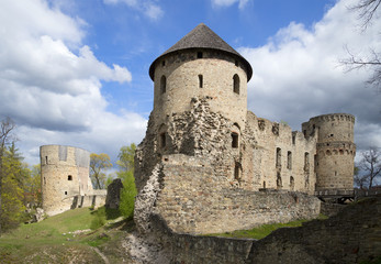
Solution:
<svg viewBox="0 0 381 264">
<path fill-rule="evenodd" d="M 311 219 L 320 200 L 301 193 L 232 188 L 205 158 L 164 156 L 155 212 L 176 232 L 215 233 Z"/>
</svg>

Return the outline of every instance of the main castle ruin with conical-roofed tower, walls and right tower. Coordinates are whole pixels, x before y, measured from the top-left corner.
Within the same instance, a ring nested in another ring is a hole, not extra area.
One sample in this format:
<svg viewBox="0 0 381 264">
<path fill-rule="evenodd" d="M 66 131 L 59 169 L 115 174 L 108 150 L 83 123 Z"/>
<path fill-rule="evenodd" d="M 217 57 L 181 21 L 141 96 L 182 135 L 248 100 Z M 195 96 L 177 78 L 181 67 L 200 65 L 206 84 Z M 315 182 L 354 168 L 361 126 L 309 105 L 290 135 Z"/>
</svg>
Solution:
<svg viewBox="0 0 381 264">
<path fill-rule="evenodd" d="M 250 64 L 200 24 L 156 58 L 154 110 L 135 155 L 135 222 L 153 217 L 173 232 L 214 233 L 311 219 L 315 191 L 352 189 L 355 118 L 302 124 L 247 110 Z"/>
</svg>

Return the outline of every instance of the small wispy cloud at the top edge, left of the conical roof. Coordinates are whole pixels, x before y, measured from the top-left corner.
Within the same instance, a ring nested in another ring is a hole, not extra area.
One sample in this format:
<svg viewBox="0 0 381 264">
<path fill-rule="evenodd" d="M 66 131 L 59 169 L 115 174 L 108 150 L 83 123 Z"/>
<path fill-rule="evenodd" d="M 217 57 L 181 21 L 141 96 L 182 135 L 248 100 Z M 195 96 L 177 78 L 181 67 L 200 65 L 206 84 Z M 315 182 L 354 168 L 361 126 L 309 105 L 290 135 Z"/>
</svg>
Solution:
<svg viewBox="0 0 381 264">
<path fill-rule="evenodd" d="M 152 20 L 158 20 L 163 16 L 163 9 L 152 0 L 103 0 L 105 4 L 119 4 L 124 3 L 130 8 L 133 8 Z"/>
</svg>

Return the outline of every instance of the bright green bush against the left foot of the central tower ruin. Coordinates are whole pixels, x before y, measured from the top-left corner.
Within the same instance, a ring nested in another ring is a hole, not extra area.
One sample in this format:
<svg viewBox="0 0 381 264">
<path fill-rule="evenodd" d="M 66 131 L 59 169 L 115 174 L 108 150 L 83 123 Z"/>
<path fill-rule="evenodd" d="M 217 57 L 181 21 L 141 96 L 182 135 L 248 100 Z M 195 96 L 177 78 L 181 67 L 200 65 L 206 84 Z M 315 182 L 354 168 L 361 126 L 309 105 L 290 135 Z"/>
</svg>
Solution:
<svg viewBox="0 0 381 264">
<path fill-rule="evenodd" d="M 134 215 L 135 196 L 137 195 L 133 172 L 120 172 L 123 189 L 121 191 L 121 202 L 119 209 L 123 217 L 132 218 Z"/>
</svg>

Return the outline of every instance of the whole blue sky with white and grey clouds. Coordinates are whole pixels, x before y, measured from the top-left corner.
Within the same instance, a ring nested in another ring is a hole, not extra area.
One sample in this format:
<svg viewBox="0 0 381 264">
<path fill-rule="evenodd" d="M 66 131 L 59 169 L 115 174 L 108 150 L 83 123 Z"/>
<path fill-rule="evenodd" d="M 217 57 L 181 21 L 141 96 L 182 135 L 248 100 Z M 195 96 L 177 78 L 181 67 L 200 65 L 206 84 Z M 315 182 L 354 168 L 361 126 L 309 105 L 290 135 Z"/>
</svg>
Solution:
<svg viewBox="0 0 381 264">
<path fill-rule="evenodd" d="M 253 66 L 248 109 L 293 130 L 310 118 L 356 117 L 359 153 L 381 147 L 381 92 L 370 70 L 340 61 L 381 50 L 381 14 L 366 31 L 356 0 L 0 0 L 0 119 L 16 124 L 29 164 L 60 144 L 116 161 L 153 109 L 150 64 L 205 23 Z"/>
</svg>

